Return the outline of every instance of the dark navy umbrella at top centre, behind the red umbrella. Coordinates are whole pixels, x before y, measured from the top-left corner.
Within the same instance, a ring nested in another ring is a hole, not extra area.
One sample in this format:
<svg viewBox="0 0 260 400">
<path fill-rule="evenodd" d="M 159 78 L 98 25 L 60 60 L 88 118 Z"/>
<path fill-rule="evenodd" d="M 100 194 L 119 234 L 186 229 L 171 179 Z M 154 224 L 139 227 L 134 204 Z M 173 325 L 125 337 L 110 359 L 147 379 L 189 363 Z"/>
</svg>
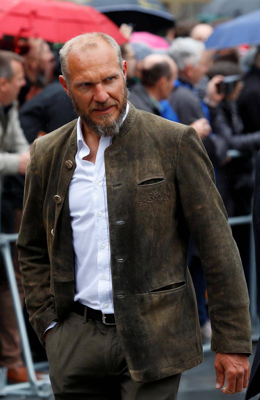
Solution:
<svg viewBox="0 0 260 400">
<path fill-rule="evenodd" d="M 118 26 L 132 24 L 135 31 L 171 28 L 173 15 L 158 0 L 88 0 L 85 4 L 106 14 Z"/>
</svg>

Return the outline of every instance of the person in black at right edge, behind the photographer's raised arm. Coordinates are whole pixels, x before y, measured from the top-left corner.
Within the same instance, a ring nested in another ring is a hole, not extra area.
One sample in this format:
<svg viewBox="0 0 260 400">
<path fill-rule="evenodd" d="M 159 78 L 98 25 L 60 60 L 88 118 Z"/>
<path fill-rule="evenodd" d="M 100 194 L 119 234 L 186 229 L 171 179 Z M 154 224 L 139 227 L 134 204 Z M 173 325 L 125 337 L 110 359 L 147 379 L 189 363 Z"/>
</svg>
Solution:
<svg viewBox="0 0 260 400">
<path fill-rule="evenodd" d="M 251 70 L 244 78 L 244 88 L 238 98 L 238 110 L 244 132 L 260 130 L 260 48 Z"/>
</svg>

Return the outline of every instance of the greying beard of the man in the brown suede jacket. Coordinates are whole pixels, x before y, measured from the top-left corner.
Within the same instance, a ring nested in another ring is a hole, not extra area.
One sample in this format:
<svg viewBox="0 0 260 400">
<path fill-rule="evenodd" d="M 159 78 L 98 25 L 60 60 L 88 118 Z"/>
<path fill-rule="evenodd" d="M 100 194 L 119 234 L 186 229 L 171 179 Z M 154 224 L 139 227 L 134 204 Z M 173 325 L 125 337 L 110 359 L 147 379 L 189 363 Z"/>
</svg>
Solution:
<svg viewBox="0 0 260 400">
<path fill-rule="evenodd" d="M 126 89 L 126 84 L 124 85 L 124 98 L 123 98 L 123 103 L 119 105 L 119 115 L 114 121 L 109 121 L 110 115 L 109 114 L 104 114 L 100 116 L 100 123 L 97 124 L 94 122 L 89 114 L 85 112 L 75 102 L 75 100 L 72 98 L 72 103 L 75 109 L 75 112 L 81 117 L 81 120 L 85 124 L 85 126 L 91 130 L 91 132 L 97 136 L 100 136 L 102 138 L 106 138 L 107 136 L 117 136 L 120 132 L 120 128 L 123 124 L 123 119 L 126 113 L 126 105 L 127 105 L 127 89 Z M 98 106 L 100 108 L 106 108 L 106 103 L 99 103 Z"/>
</svg>

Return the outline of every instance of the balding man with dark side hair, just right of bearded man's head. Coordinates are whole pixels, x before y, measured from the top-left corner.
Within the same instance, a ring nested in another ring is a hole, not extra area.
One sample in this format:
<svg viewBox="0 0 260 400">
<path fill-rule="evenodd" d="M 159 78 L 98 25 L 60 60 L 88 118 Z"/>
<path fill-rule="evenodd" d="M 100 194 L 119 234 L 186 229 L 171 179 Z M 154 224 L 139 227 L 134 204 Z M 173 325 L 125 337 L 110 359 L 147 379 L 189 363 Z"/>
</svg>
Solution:
<svg viewBox="0 0 260 400">
<path fill-rule="evenodd" d="M 142 78 L 131 89 L 128 100 L 140 110 L 161 115 L 160 100 L 167 99 L 178 69 L 165 54 L 150 54 L 142 64 Z"/>
</svg>

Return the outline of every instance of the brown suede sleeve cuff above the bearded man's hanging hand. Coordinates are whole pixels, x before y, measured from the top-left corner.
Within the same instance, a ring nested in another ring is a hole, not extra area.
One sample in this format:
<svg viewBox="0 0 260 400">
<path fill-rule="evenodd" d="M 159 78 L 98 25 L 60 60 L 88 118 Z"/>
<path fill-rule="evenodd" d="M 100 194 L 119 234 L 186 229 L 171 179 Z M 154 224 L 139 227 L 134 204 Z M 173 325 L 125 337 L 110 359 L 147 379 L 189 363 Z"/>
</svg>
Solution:
<svg viewBox="0 0 260 400">
<path fill-rule="evenodd" d="M 210 310 L 211 350 L 252 354 L 249 303 L 225 310 Z"/>
</svg>

